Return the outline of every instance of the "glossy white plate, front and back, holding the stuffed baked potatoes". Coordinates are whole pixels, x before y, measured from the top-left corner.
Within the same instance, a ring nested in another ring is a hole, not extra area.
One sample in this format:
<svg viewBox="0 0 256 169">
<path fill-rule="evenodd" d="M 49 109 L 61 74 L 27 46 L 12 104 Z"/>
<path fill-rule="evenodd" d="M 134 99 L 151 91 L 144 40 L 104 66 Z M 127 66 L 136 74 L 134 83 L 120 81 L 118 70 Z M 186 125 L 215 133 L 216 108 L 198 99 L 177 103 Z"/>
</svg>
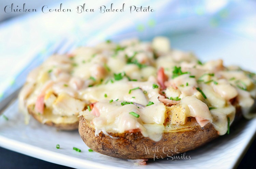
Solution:
<svg viewBox="0 0 256 169">
<path fill-rule="evenodd" d="M 225 64 L 236 63 L 255 71 L 255 41 L 226 33 L 199 32 L 175 36 L 172 42 L 180 49 L 194 50 L 203 61 L 224 58 Z M 256 131 L 256 119 L 243 121 L 231 129 L 230 135 L 187 152 L 186 155 L 191 159 L 151 160 L 147 166 L 136 166 L 129 160 L 88 152 L 89 148 L 77 131 L 57 131 L 53 127 L 39 124 L 33 118 L 29 125 L 25 125 L 17 107 L 15 101 L 4 112 L 9 121 L 0 118 L 0 146 L 74 168 L 233 168 L 239 164 Z M 56 149 L 56 144 L 60 144 L 60 149 Z M 74 151 L 73 147 L 82 152 Z"/>
</svg>

